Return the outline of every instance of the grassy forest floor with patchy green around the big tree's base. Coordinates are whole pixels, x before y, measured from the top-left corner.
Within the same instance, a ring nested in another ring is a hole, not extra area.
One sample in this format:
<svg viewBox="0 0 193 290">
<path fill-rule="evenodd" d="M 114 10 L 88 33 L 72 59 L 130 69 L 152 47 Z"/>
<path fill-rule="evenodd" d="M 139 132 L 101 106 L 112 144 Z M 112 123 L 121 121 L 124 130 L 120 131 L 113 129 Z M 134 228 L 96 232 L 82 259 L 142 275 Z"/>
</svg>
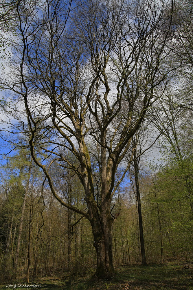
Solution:
<svg viewBox="0 0 193 290">
<path fill-rule="evenodd" d="M 25 280 L 16 283 L 1 284 L 5 289 L 41 289 L 41 290 L 193 290 L 193 262 L 151 264 L 147 267 L 125 266 L 116 269 L 112 281 L 91 278 L 91 273 L 79 273 L 76 276 L 47 276 L 38 278 L 32 284 L 41 284 L 41 288 L 25 287 Z M 20 283 L 20 284 L 19 284 Z M 18 287 L 19 284 L 19 287 Z M 13 286 L 12 286 L 13 285 Z M 15 286 L 15 287 L 14 287 Z"/>
</svg>

